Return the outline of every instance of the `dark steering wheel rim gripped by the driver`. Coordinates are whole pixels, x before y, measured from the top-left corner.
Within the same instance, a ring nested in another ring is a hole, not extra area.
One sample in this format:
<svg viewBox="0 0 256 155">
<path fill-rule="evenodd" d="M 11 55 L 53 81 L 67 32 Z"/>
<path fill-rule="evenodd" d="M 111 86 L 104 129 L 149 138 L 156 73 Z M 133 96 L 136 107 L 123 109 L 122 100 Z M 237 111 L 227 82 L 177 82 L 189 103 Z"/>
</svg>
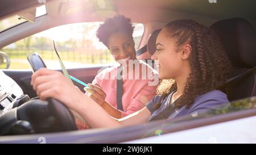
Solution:
<svg viewBox="0 0 256 155">
<path fill-rule="evenodd" d="M 46 68 L 46 65 L 38 53 L 28 55 L 27 60 L 30 62 L 34 72 L 40 68 Z M 53 98 L 48 98 L 47 101 L 48 111 L 50 114 L 52 114 L 52 116 L 55 117 L 57 123 L 61 125 L 61 129 L 64 131 L 77 130 L 75 118 L 65 104 Z"/>
</svg>

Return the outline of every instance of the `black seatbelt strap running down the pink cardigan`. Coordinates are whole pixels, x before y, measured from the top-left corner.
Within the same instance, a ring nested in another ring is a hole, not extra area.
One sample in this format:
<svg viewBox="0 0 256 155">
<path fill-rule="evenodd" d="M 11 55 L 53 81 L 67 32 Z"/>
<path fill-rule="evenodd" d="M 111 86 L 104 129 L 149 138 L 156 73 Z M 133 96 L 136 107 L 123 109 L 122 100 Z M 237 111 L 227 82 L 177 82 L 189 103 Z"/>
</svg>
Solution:
<svg viewBox="0 0 256 155">
<path fill-rule="evenodd" d="M 122 66 L 119 66 L 117 69 L 117 109 L 123 111 L 122 93 L 123 93 Z"/>
</svg>

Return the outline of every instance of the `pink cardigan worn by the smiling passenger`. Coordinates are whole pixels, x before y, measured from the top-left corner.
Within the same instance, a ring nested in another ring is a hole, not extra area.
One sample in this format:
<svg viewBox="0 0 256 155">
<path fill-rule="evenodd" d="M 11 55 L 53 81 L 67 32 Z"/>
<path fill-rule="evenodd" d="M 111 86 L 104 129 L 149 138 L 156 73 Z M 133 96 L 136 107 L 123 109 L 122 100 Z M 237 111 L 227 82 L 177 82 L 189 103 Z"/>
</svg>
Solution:
<svg viewBox="0 0 256 155">
<path fill-rule="evenodd" d="M 116 76 L 118 66 L 119 64 L 102 70 L 92 82 L 93 84 L 97 82 L 98 85 L 102 87 L 106 93 L 105 100 L 115 108 L 117 108 Z M 138 66 L 139 67 L 133 69 L 133 72 L 123 74 L 122 118 L 133 114 L 135 111 L 141 110 L 141 108 L 155 96 L 156 87 L 158 85 L 158 72 L 141 60 L 139 60 Z M 146 69 L 146 76 L 142 75 L 142 69 Z M 137 72 L 137 74 L 135 72 Z M 129 78 L 129 76 L 133 78 Z M 137 78 L 135 78 L 135 76 Z M 157 83 L 154 82 L 154 85 L 152 85 L 152 83 L 149 84 L 149 82 L 153 82 L 156 78 Z"/>
</svg>

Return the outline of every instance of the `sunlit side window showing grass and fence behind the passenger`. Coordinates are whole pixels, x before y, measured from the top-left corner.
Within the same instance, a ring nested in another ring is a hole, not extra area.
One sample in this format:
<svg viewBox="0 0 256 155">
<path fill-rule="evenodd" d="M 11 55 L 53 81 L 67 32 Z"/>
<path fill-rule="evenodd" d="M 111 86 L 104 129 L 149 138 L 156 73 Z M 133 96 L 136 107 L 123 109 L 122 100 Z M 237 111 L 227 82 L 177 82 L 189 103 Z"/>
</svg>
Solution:
<svg viewBox="0 0 256 155">
<path fill-rule="evenodd" d="M 9 69 L 30 69 L 27 55 L 37 52 L 50 69 L 61 69 L 53 48 L 63 60 L 65 68 L 82 68 L 101 64 L 113 64 L 114 58 L 96 37 L 101 22 L 75 23 L 58 26 L 16 41 L 1 51 L 9 55 Z M 143 35 L 143 24 L 133 24 L 135 49 Z"/>
</svg>

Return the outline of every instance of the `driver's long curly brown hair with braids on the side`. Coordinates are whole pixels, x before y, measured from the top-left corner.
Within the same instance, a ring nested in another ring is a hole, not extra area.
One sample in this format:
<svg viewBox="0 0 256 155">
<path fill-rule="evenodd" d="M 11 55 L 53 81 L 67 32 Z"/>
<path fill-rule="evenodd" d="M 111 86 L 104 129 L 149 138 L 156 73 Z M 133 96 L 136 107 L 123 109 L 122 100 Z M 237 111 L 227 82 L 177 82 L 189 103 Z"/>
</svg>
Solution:
<svg viewBox="0 0 256 155">
<path fill-rule="evenodd" d="M 184 44 L 192 47 L 189 63 L 191 73 L 187 79 L 183 95 L 176 101 L 178 107 L 191 106 L 194 99 L 208 91 L 221 90 L 228 95 L 228 87 L 220 87 L 230 77 L 232 65 L 220 40 L 214 31 L 193 20 L 175 20 L 164 28 L 168 36 L 175 39 L 177 49 Z M 177 89 L 174 79 L 162 79 L 156 93 L 162 95 L 162 101 Z M 156 104 L 155 109 L 160 107 Z"/>
</svg>

